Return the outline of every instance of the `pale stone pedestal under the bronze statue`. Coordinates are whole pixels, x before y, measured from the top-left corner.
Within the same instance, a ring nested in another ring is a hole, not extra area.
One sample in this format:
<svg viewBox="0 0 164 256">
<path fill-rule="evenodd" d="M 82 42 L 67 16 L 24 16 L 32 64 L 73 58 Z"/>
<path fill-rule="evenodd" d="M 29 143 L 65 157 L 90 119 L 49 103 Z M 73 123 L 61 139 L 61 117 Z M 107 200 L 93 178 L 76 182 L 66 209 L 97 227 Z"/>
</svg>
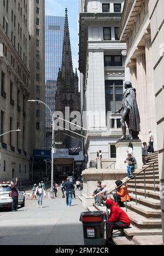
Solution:
<svg viewBox="0 0 164 256">
<path fill-rule="evenodd" d="M 142 142 L 140 139 L 130 140 L 130 139 L 119 139 L 116 142 L 116 169 L 127 170 L 127 164 L 124 164 L 125 159 L 127 158 L 127 148 L 128 144 L 132 143 L 133 145 L 133 156 L 136 158 L 137 165 L 135 169 L 142 169 Z"/>
</svg>

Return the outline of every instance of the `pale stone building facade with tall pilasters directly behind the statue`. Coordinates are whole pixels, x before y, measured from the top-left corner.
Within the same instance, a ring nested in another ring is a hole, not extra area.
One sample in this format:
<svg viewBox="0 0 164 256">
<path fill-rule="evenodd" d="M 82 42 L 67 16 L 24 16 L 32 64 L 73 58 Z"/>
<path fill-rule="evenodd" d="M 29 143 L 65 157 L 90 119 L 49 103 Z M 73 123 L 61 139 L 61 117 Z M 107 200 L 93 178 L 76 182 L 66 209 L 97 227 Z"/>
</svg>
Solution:
<svg viewBox="0 0 164 256">
<path fill-rule="evenodd" d="M 115 112 L 122 102 L 126 72 L 126 43 L 118 37 L 123 7 L 124 1 L 79 1 L 81 113 L 89 130 L 85 141 L 89 162 L 98 150 L 103 158 L 115 159 L 115 143 L 121 136 L 121 117 Z"/>
</svg>

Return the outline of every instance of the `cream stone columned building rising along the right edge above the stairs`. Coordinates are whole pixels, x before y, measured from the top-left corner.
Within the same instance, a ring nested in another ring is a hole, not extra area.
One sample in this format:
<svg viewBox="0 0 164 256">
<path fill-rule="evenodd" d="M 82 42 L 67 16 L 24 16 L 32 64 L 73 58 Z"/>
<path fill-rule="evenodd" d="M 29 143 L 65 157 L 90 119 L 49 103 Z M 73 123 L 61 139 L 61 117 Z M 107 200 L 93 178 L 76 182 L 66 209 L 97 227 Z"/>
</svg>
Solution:
<svg viewBox="0 0 164 256">
<path fill-rule="evenodd" d="M 162 226 L 164 234 L 164 9 L 162 0 L 125 1 L 120 39 L 127 43 L 130 76 L 138 92 L 141 118 L 140 137 L 148 141 L 148 130 L 154 133 L 159 150 Z"/>
</svg>

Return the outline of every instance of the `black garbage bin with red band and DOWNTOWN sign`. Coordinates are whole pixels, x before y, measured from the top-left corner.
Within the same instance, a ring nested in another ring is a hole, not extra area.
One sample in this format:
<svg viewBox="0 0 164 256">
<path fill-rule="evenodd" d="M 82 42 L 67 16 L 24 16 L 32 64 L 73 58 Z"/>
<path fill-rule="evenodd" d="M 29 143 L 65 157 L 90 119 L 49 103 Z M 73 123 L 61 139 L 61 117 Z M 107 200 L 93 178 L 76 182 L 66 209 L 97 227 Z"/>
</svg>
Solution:
<svg viewBox="0 0 164 256">
<path fill-rule="evenodd" d="M 105 223 L 107 214 L 103 211 L 82 212 L 80 222 L 83 223 L 84 245 L 106 245 Z"/>
</svg>

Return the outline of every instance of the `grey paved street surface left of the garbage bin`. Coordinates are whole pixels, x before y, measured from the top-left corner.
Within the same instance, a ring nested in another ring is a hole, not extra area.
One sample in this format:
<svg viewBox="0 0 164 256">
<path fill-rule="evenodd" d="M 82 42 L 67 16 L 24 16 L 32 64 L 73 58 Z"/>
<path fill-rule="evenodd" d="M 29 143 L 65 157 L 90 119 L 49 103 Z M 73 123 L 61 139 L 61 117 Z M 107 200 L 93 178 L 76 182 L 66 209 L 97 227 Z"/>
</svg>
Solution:
<svg viewBox="0 0 164 256">
<path fill-rule="evenodd" d="M 46 196 L 42 209 L 37 201 L 26 200 L 17 212 L 0 210 L 0 245 L 83 245 L 83 211 L 79 199 L 68 207 L 61 194 L 57 199 Z"/>
</svg>

